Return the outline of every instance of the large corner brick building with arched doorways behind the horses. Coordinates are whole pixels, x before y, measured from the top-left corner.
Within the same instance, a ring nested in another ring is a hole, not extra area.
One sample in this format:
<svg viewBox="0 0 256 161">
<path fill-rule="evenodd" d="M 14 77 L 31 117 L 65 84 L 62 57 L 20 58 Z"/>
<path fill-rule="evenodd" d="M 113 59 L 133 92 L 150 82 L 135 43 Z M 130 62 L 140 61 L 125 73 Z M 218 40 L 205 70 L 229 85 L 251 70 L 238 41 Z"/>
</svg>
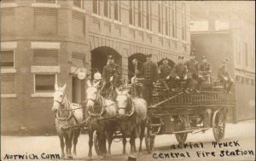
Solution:
<svg viewBox="0 0 256 161">
<path fill-rule="evenodd" d="M 102 72 L 109 54 L 122 78 L 146 54 L 157 62 L 188 58 L 189 13 L 182 1 L 2 0 L 2 132 L 55 129 L 55 83 L 67 83 L 68 99 L 84 101 L 86 79 L 76 74 Z"/>
</svg>

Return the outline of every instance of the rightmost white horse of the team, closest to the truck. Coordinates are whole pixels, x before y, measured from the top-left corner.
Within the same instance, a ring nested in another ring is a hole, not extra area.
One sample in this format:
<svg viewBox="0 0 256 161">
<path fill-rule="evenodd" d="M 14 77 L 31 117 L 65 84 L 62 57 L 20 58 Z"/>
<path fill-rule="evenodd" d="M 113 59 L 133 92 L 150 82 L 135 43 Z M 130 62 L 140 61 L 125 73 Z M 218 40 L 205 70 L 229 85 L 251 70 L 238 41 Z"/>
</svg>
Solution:
<svg viewBox="0 0 256 161">
<path fill-rule="evenodd" d="M 147 102 L 142 98 L 131 99 L 128 94 L 129 90 L 119 91 L 117 93 L 116 102 L 118 106 L 118 114 L 120 118 L 119 125 L 123 135 L 123 154 L 126 153 L 126 134 L 130 132 L 131 152 L 137 152 L 135 139 L 137 135 L 140 137 L 139 152 L 142 152 L 142 144 L 145 130 L 145 120 L 147 118 Z"/>
</svg>

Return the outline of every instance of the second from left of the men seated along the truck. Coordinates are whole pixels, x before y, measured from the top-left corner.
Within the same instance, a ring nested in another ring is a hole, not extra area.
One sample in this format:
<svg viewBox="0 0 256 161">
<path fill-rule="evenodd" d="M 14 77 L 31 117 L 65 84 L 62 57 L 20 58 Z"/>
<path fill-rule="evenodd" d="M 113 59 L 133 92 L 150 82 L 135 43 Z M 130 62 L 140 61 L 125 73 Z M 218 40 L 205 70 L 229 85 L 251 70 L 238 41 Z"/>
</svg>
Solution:
<svg viewBox="0 0 256 161">
<path fill-rule="evenodd" d="M 183 56 L 178 56 L 177 64 L 173 66 L 173 76 L 175 78 L 175 84 L 179 89 L 182 89 L 181 83 L 185 82 L 183 86 L 184 92 L 188 93 L 189 81 L 187 76 L 187 68 L 183 64 Z"/>
</svg>

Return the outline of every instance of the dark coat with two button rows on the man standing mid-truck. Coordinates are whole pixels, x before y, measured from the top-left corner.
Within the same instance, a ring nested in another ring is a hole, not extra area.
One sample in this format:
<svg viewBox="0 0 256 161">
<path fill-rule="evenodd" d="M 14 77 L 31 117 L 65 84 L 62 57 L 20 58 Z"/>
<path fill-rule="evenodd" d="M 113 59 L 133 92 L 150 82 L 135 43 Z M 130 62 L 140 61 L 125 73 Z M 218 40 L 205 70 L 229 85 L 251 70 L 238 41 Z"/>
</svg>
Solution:
<svg viewBox="0 0 256 161">
<path fill-rule="evenodd" d="M 158 78 L 157 65 L 152 61 L 145 62 L 140 75 L 144 78 L 145 84 L 156 83 Z"/>
</svg>

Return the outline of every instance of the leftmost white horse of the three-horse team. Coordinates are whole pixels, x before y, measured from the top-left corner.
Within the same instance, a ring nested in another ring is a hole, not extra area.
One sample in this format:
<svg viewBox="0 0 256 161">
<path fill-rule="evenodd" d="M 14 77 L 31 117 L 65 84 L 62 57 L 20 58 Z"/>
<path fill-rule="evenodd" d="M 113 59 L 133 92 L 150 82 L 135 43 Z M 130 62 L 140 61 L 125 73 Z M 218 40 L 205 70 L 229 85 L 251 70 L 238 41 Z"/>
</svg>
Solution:
<svg viewBox="0 0 256 161">
<path fill-rule="evenodd" d="M 65 158 L 64 147 L 68 158 L 73 158 L 71 153 L 73 142 L 73 155 L 76 156 L 76 145 L 80 135 L 80 129 L 73 129 L 72 126 L 81 124 L 83 121 L 83 109 L 78 104 L 67 100 L 67 83 L 63 87 L 55 84 L 54 104 L 52 111 L 55 112 L 55 126 L 61 141 L 61 158 Z M 77 109 L 79 108 L 79 109 Z M 65 143 L 64 143 L 65 139 Z"/>
</svg>

